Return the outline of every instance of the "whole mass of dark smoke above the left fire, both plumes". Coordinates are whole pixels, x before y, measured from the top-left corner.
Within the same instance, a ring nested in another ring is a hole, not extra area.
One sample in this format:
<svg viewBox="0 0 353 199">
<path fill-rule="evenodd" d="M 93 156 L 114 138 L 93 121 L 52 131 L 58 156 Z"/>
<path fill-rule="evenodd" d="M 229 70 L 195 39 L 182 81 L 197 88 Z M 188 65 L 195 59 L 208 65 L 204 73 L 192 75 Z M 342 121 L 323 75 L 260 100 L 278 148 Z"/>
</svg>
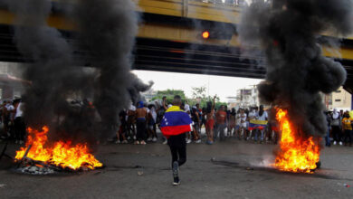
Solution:
<svg viewBox="0 0 353 199">
<path fill-rule="evenodd" d="M 130 0 L 79 1 L 71 14 L 78 25 L 74 49 L 55 28 L 47 25 L 49 0 L 8 0 L 16 15 L 14 43 L 33 62 L 24 69 L 32 85 L 25 90 L 24 118 L 28 126 L 49 125 L 53 137 L 91 141 L 110 137 L 119 126 L 119 110 L 140 100 L 149 85 L 130 72 L 131 51 L 138 32 L 138 16 Z M 73 57 L 81 50 L 88 56 Z M 89 57 L 89 58 L 88 58 Z M 87 67 L 77 63 L 87 63 Z M 93 106 L 85 99 L 93 100 Z M 85 109 L 72 106 L 82 100 Z"/>
</svg>

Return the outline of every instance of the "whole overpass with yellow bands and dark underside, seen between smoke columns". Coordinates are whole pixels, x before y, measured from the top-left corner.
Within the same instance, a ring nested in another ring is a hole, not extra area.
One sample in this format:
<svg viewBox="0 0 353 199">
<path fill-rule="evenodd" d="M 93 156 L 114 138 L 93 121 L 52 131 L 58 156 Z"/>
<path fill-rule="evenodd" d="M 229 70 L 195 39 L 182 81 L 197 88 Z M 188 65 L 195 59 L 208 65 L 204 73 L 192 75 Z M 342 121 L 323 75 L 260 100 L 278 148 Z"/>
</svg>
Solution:
<svg viewBox="0 0 353 199">
<path fill-rule="evenodd" d="M 71 41 L 74 25 L 58 6 L 62 4 L 60 0 L 52 1 L 52 4 L 48 24 L 61 30 Z M 236 24 L 241 9 L 234 4 L 204 3 L 202 0 L 139 0 L 136 12 L 141 14 L 141 23 L 133 68 L 264 78 L 265 66 L 254 64 L 262 57 L 240 56 Z M 25 62 L 13 43 L 13 23 L 14 14 L 0 5 L 0 61 Z M 205 30 L 210 33 L 207 40 L 201 36 Z M 352 92 L 353 38 L 344 39 L 339 52 L 340 58 L 329 48 L 323 49 L 325 56 L 335 58 L 345 66 L 348 71 L 345 88 Z"/>
</svg>

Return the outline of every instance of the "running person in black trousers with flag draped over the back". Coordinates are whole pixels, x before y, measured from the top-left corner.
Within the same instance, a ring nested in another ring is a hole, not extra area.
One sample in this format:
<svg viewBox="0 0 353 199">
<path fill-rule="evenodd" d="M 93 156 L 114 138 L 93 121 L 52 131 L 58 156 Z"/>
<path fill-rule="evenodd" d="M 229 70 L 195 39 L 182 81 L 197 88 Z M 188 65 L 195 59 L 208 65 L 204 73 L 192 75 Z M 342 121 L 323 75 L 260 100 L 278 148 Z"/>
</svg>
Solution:
<svg viewBox="0 0 353 199">
<path fill-rule="evenodd" d="M 181 104 L 181 97 L 176 95 L 173 106 L 166 110 L 160 124 L 160 130 L 167 137 L 172 155 L 173 185 L 180 185 L 179 166 L 186 163 L 186 132 L 192 130 L 192 120 L 180 109 Z"/>
</svg>

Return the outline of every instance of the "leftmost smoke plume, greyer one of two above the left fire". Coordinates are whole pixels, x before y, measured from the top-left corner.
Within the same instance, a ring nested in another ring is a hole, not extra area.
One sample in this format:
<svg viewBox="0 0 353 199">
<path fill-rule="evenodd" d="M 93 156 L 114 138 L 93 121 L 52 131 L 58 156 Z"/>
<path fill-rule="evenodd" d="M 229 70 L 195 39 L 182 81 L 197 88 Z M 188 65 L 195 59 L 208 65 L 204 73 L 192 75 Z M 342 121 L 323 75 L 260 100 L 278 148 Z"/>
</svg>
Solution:
<svg viewBox="0 0 353 199">
<path fill-rule="evenodd" d="M 72 48 L 56 29 L 47 26 L 52 4 L 47 0 L 7 2 L 16 14 L 14 43 L 26 65 L 24 79 L 31 81 L 24 93 L 25 120 L 31 127 L 51 125 L 58 111 L 67 109 L 66 99 L 85 90 L 91 79 L 79 67 L 72 66 Z"/>
</svg>

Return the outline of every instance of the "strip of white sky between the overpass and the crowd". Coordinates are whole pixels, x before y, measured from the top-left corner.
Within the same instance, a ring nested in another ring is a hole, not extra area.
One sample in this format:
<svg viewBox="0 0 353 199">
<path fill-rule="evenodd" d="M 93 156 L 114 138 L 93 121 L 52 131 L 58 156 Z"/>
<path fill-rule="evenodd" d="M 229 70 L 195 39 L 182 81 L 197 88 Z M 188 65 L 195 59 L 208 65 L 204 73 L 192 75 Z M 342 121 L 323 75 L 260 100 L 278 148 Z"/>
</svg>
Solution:
<svg viewBox="0 0 353 199">
<path fill-rule="evenodd" d="M 186 97 L 191 98 L 192 87 L 205 86 L 209 95 L 215 94 L 221 101 L 228 102 L 227 97 L 235 97 L 236 90 L 258 84 L 262 80 L 234 78 L 215 75 L 188 74 L 164 71 L 132 71 L 142 81 L 154 81 L 153 90 L 184 90 Z"/>
</svg>

